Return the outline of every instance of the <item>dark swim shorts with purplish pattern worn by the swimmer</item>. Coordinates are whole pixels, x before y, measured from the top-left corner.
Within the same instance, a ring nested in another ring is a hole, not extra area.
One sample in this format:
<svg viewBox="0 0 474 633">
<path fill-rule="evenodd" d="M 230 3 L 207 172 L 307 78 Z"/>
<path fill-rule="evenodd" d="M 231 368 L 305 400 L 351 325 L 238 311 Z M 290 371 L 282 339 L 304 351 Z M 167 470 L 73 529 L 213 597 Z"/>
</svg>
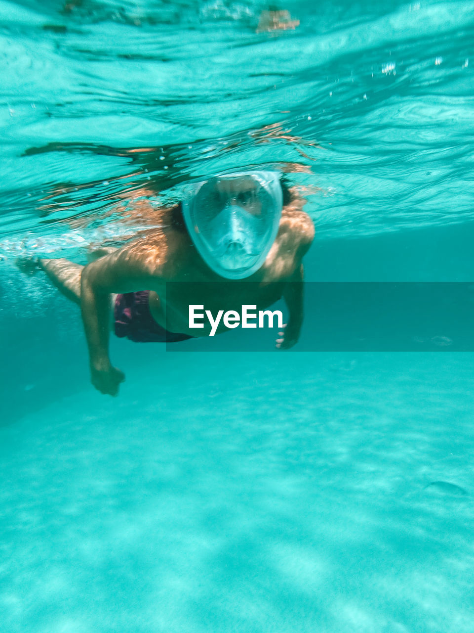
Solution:
<svg viewBox="0 0 474 633">
<path fill-rule="evenodd" d="M 136 343 L 175 343 L 192 336 L 168 332 L 152 317 L 148 303 L 150 292 L 118 294 L 114 306 L 115 334 Z"/>
</svg>

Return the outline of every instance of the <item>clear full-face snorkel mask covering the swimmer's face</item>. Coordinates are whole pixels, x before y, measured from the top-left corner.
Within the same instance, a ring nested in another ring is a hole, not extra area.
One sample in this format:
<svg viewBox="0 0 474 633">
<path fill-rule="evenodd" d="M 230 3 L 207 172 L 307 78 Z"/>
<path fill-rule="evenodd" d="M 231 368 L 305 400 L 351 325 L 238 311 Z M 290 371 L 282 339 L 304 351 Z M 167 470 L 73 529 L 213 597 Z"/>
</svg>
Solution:
<svg viewBox="0 0 474 633">
<path fill-rule="evenodd" d="M 264 263 L 282 207 L 279 173 L 235 172 L 195 184 L 183 216 L 205 263 L 221 277 L 244 279 Z"/>
</svg>

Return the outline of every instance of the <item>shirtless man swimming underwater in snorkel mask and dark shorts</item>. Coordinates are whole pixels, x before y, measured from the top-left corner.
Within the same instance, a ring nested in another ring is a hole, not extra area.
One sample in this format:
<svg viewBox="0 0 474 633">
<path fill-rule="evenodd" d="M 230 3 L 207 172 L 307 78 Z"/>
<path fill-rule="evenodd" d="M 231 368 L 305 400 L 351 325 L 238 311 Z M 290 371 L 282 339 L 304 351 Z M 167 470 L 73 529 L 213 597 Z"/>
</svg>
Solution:
<svg viewBox="0 0 474 633">
<path fill-rule="evenodd" d="M 125 380 L 109 358 L 111 315 L 119 337 L 174 342 L 209 335 L 210 326 L 190 329 L 190 304 L 214 314 L 242 304 L 263 310 L 283 297 L 288 324 L 277 347 L 293 346 L 303 320 L 301 260 L 314 237 L 303 204 L 277 172 L 217 175 L 166 209 L 160 230 L 120 249 L 100 249 L 86 266 L 39 260 L 52 283 L 81 307 L 94 387 L 116 396 Z M 226 329 L 221 323 L 217 333 Z"/>
</svg>

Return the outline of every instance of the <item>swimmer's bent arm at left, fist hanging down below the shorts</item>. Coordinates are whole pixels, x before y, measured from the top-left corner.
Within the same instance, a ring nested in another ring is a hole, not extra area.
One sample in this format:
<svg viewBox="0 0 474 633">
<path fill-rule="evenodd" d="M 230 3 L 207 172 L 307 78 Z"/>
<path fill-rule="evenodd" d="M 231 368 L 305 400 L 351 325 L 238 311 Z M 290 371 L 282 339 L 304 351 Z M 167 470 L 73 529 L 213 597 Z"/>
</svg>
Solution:
<svg viewBox="0 0 474 633">
<path fill-rule="evenodd" d="M 112 293 L 153 290 L 159 266 L 146 265 L 121 249 L 85 266 L 81 276 L 81 312 L 89 352 L 92 384 L 112 396 L 125 377 L 109 358 L 109 301 Z"/>
</svg>

